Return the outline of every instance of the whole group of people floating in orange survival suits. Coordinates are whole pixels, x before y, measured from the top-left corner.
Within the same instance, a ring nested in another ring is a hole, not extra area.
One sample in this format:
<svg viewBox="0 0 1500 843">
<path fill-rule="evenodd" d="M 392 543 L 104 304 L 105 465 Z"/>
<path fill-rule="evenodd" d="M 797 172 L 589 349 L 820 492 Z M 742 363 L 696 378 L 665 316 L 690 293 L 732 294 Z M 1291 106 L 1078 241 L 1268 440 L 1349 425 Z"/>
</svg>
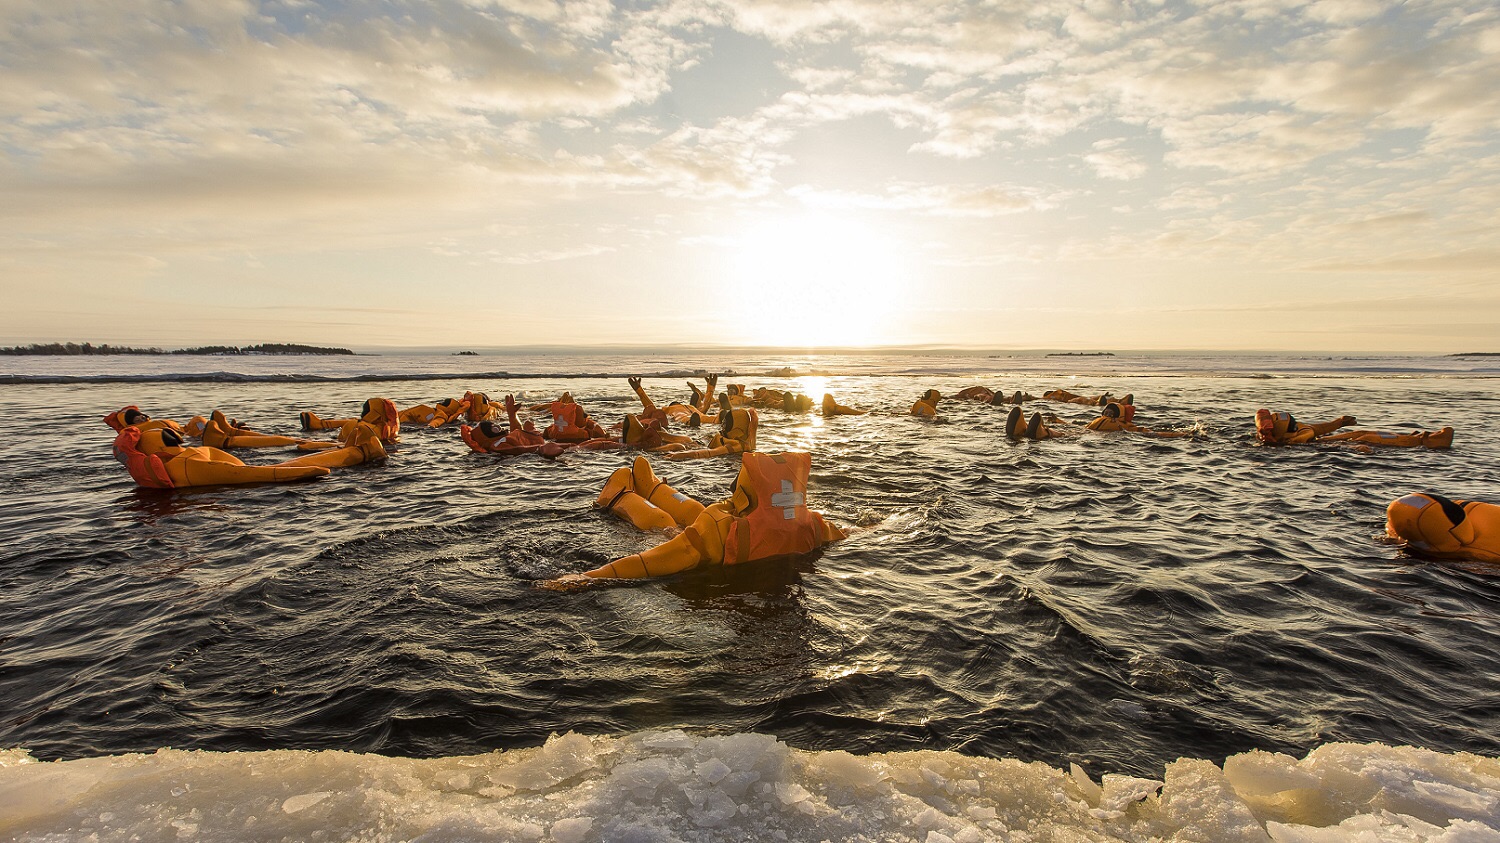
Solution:
<svg viewBox="0 0 1500 843">
<path fill-rule="evenodd" d="M 514 396 L 507 394 L 495 402 L 478 392 L 406 410 L 398 410 L 390 399 L 376 396 L 368 399 L 358 414 L 338 418 L 321 417 L 312 411 L 298 414 L 304 432 L 332 430 L 334 432 L 332 441 L 261 434 L 218 410 L 207 417 L 194 417 L 178 424 L 166 418 L 152 418 L 140 406 L 130 405 L 106 414 L 104 422 L 117 434 L 116 458 L 124 464 L 136 484 L 147 489 L 279 483 L 321 477 L 336 468 L 386 459 L 387 448 L 399 442 L 402 424 L 430 429 L 456 424 L 459 438 L 471 450 L 484 454 L 534 453 L 550 459 L 572 448 L 634 448 L 660 453 L 670 460 L 717 456 L 740 459 L 740 472 L 729 496 L 705 506 L 657 477 L 651 462 L 645 456 L 638 456 L 630 466 L 620 468 L 609 477 L 596 506 L 639 530 L 669 530 L 675 534 L 642 554 L 538 584 L 543 588 L 566 591 L 597 579 L 666 576 L 698 566 L 734 566 L 807 554 L 846 537 L 840 526 L 807 507 L 810 454 L 764 453 L 756 448 L 758 411 L 776 408 L 786 412 L 810 412 L 819 406 L 824 416 L 834 417 L 862 416 L 870 410 L 844 406 L 832 394 L 824 394 L 822 402 L 814 404 L 801 393 L 747 390 L 741 384 L 730 384 L 724 392 L 717 392 L 714 375 L 705 378 L 706 388 L 688 384 L 690 400 L 658 406 L 646 394 L 640 378 L 627 381 L 640 400 L 640 411 L 624 414 L 609 428 L 596 420 L 567 392 L 555 400 L 525 406 L 532 414 L 546 414 L 550 418 L 546 428 L 540 429 L 530 418 L 519 417 L 522 406 Z M 1041 400 L 1098 408 L 1098 416 L 1088 423 L 1041 412 L 1032 412 L 1028 418 L 1022 405 L 1038 399 L 1022 392 L 1004 394 L 987 387 L 969 387 L 952 399 L 1008 405 L 1004 432 L 1016 441 L 1072 436 L 1084 430 L 1150 436 L 1197 435 L 1196 429 L 1150 429 L 1136 424 L 1137 406 L 1132 394 L 1116 399 L 1108 393 L 1094 396 L 1066 390 L 1042 393 Z M 936 418 L 942 400 L 944 396 L 938 390 L 927 390 L 909 412 L 921 418 Z M 710 428 L 712 432 L 705 442 L 699 442 L 690 435 L 672 432 L 672 424 L 688 429 Z M 1256 414 L 1256 436 L 1268 446 L 1342 442 L 1362 450 L 1372 446 L 1448 448 L 1454 441 L 1452 428 L 1412 434 L 1341 430 L 1352 424 L 1354 418 L 1350 416 L 1304 424 L 1288 412 L 1260 410 Z M 202 444 L 188 444 L 189 438 L 196 438 Z M 309 453 L 273 465 L 248 465 L 226 450 L 255 447 L 296 447 Z M 1500 506 L 1413 494 L 1392 501 L 1386 516 L 1388 534 L 1404 542 L 1413 552 L 1437 558 L 1500 562 Z"/>
</svg>

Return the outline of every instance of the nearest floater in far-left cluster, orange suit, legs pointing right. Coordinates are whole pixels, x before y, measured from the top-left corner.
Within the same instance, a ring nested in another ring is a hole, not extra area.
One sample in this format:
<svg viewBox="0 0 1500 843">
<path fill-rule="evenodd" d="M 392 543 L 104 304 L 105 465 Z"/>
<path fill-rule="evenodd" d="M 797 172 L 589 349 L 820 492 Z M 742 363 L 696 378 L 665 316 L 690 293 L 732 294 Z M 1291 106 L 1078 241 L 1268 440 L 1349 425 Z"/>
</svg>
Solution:
<svg viewBox="0 0 1500 843">
<path fill-rule="evenodd" d="M 186 446 L 170 428 L 128 426 L 114 438 L 114 458 L 142 489 L 182 489 L 240 483 L 290 483 L 328 474 L 322 465 L 244 465 L 210 446 Z M 322 456 L 322 454 L 308 454 Z M 304 459 L 304 458 L 303 458 Z"/>
</svg>

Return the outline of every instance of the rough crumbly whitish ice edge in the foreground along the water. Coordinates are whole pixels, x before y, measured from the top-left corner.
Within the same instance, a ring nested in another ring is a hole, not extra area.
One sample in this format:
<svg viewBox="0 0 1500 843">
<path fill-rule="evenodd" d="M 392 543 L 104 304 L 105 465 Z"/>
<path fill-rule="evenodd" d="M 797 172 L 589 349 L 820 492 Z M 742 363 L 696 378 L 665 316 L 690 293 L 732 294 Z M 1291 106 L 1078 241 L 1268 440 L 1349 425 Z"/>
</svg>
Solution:
<svg viewBox="0 0 1500 843">
<path fill-rule="evenodd" d="M 567 734 L 406 759 L 0 753 L 0 834 L 42 840 L 1500 840 L 1500 762 L 1380 744 L 1180 759 L 1161 778 L 768 735 Z"/>
</svg>

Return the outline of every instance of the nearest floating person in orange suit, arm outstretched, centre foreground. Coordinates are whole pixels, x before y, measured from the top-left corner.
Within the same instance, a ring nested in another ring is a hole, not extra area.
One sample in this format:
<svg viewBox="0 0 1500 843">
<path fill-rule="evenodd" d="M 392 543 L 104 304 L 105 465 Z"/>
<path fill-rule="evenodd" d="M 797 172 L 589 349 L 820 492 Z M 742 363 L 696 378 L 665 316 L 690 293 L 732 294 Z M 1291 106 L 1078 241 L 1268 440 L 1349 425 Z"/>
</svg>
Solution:
<svg viewBox="0 0 1500 843">
<path fill-rule="evenodd" d="M 640 459 L 636 460 L 640 464 Z M 830 524 L 822 514 L 807 508 L 807 477 L 812 458 L 800 452 L 746 453 L 728 500 L 702 507 L 693 520 L 675 537 L 642 554 L 634 554 L 600 566 L 591 572 L 566 574 L 537 584 L 554 591 L 572 591 L 597 579 L 644 579 L 668 576 L 698 566 L 736 566 L 810 554 L 825 544 L 840 542 L 844 531 Z M 621 470 L 624 471 L 624 470 Z M 646 466 L 650 471 L 650 466 Z M 604 484 L 606 492 L 615 492 L 608 506 L 612 512 L 632 520 L 640 518 L 634 510 L 651 500 L 678 500 L 680 494 L 656 478 L 634 476 L 628 482 L 620 471 Z M 624 486 L 628 489 L 622 489 Z M 645 494 L 640 489 L 646 489 Z M 639 501 L 630 498 L 634 495 Z M 681 495 L 686 498 L 686 495 Z M 604 495 L 600 495 L 603 500 Z M 630 500 L 627 506 L 622 501 Z M 690 498 L 688 498 L 690 500 Z M 696 501 L 694 501 L 696 502 Z M 627 510 L 627 512 L 622 512 Z M 676 514 L 663 508 L 664 518 L 652 524 L 680 524 L 688 507 Z"/>
</svg>

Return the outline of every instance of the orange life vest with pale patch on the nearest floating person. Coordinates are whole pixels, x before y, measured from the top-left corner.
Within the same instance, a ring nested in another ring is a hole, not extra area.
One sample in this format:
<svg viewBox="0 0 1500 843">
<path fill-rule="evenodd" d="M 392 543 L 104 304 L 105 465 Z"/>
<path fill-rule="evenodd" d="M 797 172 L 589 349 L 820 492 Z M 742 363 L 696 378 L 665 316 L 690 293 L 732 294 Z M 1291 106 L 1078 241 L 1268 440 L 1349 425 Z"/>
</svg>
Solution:
<svg viewBox="0 0 1500 843">
<path fill-rule="evenodd" d="M 730 498 L 735 520 L 724 536 L 724 564 L 807 554 L 828 543 L 824 518 L 807 508 L 812 456 L 747 453 Z"/>
</svg>

